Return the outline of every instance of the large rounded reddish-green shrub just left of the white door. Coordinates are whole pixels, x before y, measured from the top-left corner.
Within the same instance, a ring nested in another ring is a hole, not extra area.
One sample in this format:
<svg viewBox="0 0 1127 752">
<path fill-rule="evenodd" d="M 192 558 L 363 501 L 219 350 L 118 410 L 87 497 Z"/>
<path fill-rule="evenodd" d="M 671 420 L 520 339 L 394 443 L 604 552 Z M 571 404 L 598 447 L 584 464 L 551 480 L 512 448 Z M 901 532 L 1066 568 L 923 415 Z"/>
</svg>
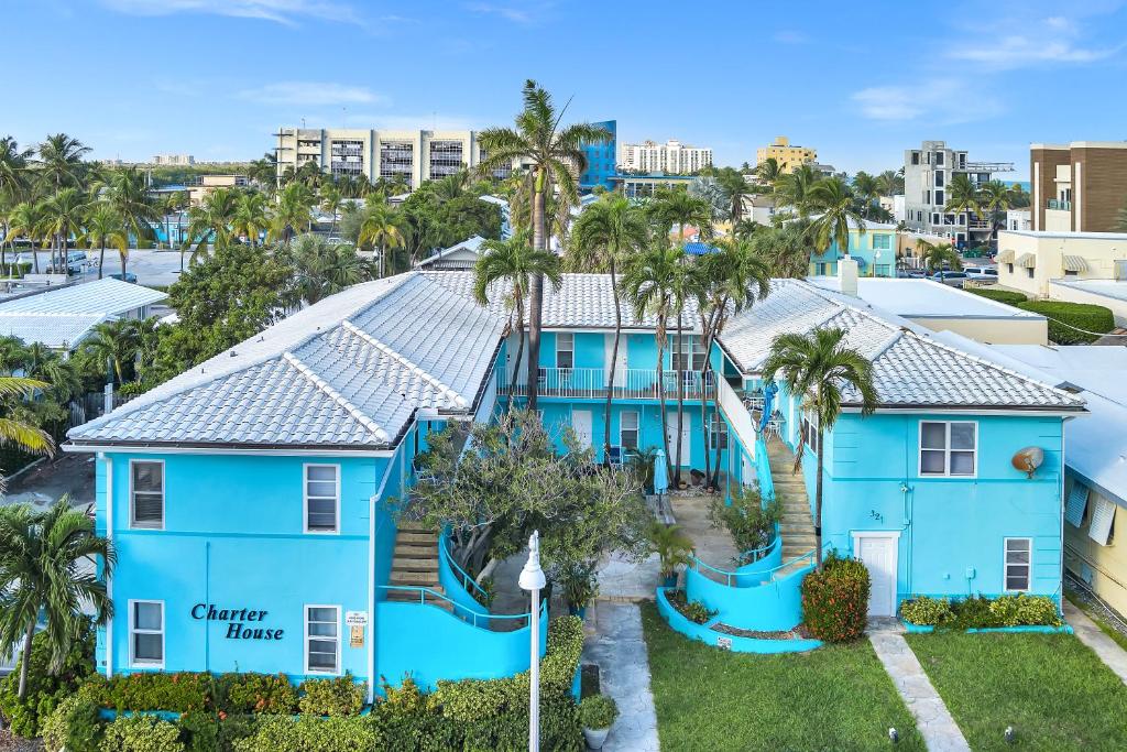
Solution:
<svg viewBox="0 0 1127 752">
<path fill-rule="evenodd" d="M 802 621 L 817 639 L 843 643 L 864 634 L 869 610 L 869 570 L 833 552 L 802 580 Z"/>
</svg>

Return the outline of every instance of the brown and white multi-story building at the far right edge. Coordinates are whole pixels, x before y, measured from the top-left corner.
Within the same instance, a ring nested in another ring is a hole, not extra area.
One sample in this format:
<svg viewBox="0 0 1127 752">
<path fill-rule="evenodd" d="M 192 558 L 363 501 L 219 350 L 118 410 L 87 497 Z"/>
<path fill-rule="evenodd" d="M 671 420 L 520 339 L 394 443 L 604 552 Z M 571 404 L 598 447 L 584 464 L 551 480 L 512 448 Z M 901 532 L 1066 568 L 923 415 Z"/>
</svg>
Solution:
<svg viewBox="0 0 1127 752">
<path fill-rule="evenodd" d="M 1029 148 L 1032 229 L 1115 232 L 1127 207 L 1127 141 Z"/>
</svg>

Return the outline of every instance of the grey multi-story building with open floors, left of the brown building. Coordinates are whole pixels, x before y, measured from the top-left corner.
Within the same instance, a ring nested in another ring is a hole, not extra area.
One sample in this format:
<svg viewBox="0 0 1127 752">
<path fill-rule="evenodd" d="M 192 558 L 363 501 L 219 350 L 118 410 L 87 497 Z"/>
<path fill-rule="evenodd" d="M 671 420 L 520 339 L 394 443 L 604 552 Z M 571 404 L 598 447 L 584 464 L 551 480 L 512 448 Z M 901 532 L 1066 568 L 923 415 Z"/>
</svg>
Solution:
<svg viewBox="0 0 1127 752">
<path fill-rule="evenodd" d="M 904 222 L 912 230 L 947 238 L 957 246 L 984 242 L 993 223 L 973 212 L 947 211 L 948 186 L 957 175 L 982 185 L 996 172 L 1012 171 L 1012 162 L 974 162 L 966 151 L 949 149 L 944 141 L 924 141 L 920 149 L 904 152 Z"/>
</svg>

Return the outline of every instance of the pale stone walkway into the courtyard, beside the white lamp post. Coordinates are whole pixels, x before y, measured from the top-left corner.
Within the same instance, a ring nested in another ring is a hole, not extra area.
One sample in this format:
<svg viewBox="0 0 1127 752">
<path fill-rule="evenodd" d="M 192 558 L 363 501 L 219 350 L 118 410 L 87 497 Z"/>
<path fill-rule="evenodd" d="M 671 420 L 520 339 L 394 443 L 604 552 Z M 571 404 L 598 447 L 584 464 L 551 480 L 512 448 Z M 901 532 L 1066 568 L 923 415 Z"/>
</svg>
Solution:
<svg viewBox="0 0 1127 752">
<path fill-rule="evenodd" d="M 657 714 L 649 689 L 649 657 L 641 634 L 641 611 L 633 603 L 595 603 L 595 634 L 583 660 L 598 664 L 600 690 L 614 698 L 619 719 L 604 752 L 658 752 Z"/>
</svg>

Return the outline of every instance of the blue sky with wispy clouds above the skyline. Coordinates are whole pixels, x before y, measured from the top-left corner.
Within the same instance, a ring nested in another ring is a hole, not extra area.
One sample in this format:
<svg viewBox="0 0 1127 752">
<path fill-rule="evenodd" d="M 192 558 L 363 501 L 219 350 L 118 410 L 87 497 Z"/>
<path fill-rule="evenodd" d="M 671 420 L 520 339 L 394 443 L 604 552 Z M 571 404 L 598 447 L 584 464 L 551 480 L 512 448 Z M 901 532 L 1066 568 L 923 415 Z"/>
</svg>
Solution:
<svg viewBox="0 0 1127 752">
<path fill-rule="evenodd" d="M 1127 139 L 1127 0 L 3 0 L 0 135 L 94 158 L 248 160 L 278 126 L 481 129 L 547 87 L 620 141 L 755 162 L 777 135 L 853 172 L 946 140 Z"/>
</svg>

